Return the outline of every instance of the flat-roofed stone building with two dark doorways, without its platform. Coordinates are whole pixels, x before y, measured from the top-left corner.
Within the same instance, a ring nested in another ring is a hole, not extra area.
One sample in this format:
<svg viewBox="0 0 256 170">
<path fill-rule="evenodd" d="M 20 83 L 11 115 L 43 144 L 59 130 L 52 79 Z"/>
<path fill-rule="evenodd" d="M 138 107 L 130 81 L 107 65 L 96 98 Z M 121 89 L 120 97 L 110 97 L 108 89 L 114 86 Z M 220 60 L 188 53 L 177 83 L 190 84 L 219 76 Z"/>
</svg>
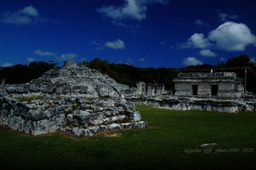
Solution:
<svg viewBox="0 0 256 170">
<path fill-rule="evenodd" d="M 234 97 L 243 95 L 243 79 L 233 72 L 179 73 L 175 96 Z"/>
</svg>

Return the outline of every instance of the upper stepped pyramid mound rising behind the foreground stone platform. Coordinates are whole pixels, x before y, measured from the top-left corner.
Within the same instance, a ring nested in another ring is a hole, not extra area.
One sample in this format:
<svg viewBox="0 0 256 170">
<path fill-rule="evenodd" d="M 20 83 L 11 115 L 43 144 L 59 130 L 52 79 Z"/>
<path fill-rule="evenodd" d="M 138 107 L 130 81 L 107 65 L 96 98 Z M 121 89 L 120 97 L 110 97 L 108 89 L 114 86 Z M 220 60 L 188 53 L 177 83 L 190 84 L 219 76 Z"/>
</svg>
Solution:
<svg viewBox="0 0 256 170">
<path fill-rule="evenodd" d="M 118 84 L 108 75 L 78 66 L 75 61 L 66 61 L 62 68 L 49 70 L 39 79 L 26 84 L 5 85 L 0 89 L 0 96 L 120 97 L 122 91 L 127 89 L 129 86 Z"/>
</svg>

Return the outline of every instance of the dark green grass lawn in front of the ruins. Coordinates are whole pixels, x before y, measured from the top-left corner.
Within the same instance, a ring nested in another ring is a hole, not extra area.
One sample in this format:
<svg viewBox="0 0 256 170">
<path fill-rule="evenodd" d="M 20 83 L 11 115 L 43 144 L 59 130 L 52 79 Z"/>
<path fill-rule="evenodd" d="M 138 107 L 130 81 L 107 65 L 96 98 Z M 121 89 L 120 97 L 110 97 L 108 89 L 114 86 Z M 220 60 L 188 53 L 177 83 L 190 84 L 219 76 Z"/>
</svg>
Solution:
<svg viewBox="0 0 256 170">
<path fill-rule="evenodd" d="M 34 137 L 1 127 L 0 169 L 256 168 L 255 113 L 173 111 L 144 105 L 137 110 L 148 127 L 111 132 L 118 137 L 75 138 L 59 133 Z M 218 145 L 204 150 L 200 147 L 204 143 Z M 198 152 L 185 153 L 186 149 Z M 204 153 L 209 149 L 211 153 Z M 224 152 L 215 153 L 218 149 Z"/>
</svg>

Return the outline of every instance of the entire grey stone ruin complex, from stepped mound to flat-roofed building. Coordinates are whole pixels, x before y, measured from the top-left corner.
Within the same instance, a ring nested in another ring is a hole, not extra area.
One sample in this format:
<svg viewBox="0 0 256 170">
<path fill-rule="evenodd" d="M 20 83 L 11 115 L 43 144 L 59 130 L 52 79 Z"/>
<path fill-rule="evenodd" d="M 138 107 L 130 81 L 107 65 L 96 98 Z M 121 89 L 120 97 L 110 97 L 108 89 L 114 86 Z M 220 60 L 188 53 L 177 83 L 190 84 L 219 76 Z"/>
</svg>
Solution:
<svg viewBox="0 0 256 170">
<path fill-rule="evenodd" d="M 26 84 L 0 88 L 0 125 L 28 134 L 56 130 L 78 137 L 105 130 L 144 128 L 135 104 L 176 110 L 255 112 L 256 96 L 243 92 L 235 73 L 180 73 L 175 95 L 163 84 L 138 82 L 137 88 L 118 84 L 108 75 L 74 61 Z M 33 98 L 20 101 L 20 98 Z"/>
</svg>

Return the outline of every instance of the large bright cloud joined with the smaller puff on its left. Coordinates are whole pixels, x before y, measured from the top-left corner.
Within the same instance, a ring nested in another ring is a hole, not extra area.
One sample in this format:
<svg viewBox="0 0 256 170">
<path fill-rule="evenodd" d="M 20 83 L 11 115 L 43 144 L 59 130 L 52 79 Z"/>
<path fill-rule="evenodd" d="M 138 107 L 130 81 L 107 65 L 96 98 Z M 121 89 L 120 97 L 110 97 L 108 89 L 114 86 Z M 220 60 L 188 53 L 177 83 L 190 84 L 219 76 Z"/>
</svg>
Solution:
<svg viewBox="0 0 256 170">
<path fill-rule="evenodd" d="M 255 45 L 256 36 L 243 23 L 225 22 L 204 37 L 195 33 L 187 42 L 177 43 L 179 49 L 223 49 L 228 51 L 243 51 L 247 45 Z"/>
</svg>

